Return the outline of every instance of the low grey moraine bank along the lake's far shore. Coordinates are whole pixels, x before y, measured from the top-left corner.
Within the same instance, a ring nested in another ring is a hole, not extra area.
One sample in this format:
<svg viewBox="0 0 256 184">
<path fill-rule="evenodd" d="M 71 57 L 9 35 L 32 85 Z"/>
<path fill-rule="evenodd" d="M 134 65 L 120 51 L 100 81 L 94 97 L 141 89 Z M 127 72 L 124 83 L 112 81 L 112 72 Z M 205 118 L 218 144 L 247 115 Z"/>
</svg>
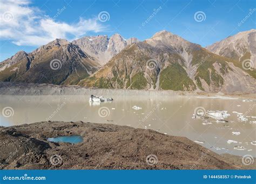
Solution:
<svg viewBox="0 0 256 184">
<path fill-rule="evenodd" d="M 134 89 L 96 89 L 80 86 L 58 86 L 54 84 L 35 84 L 21 82 L 0 82 L 0 95 L 125 95 L 125 96 L 188 96 L 209 98 L 250 98 L 256 94 L 246 93 L 207 93 L 204 91 L 172 91 L 172 90 L 134 90 Z"/>
</svg>

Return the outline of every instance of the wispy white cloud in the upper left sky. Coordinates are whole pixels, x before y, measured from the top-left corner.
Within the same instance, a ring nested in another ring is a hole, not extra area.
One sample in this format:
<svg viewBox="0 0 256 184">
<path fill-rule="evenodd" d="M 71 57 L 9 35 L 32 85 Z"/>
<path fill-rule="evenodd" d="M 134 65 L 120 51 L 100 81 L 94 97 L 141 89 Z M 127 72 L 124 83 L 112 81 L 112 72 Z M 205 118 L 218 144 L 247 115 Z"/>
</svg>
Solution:
<svg viewBox="0 0 256 184">
<path fill-rule="evenodd" d="M 29 0 L 0 0 L 0 39 L 16 45 L 40 46 L 56 38 L 72 39 L 89 31 L 105 30 L 96 18 L 80 17 L 74 24 L 57 22 L 30 4 Z"/>
</svg>

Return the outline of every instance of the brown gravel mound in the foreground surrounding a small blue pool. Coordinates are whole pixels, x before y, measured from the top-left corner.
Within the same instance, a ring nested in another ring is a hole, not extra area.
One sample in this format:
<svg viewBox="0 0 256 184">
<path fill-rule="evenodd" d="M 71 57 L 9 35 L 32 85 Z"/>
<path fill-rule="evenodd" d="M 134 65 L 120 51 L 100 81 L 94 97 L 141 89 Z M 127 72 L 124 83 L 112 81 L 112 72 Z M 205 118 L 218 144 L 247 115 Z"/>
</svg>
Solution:
<svg viewBox="0 0 256 184">
<path fill-rule="evenodd" d="M 78 144 L 46 139 L 80 135 Z M 255 169 L 185 137 L 129 126 L 39 122 L 0 126 L 2 169 Z"/>
</svg>

